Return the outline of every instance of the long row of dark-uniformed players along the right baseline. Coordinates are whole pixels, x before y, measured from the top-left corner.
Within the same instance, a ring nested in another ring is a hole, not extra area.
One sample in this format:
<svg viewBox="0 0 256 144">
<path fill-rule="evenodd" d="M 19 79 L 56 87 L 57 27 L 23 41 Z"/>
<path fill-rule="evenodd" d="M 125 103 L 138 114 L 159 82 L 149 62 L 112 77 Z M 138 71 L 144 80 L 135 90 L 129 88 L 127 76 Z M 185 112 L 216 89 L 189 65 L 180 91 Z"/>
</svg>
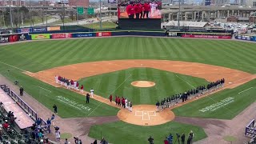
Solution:
<svg viewBox="0 0 256 144">
<path fill-rule="evenodd" d="M 222 78 L 216 82 L 210 82 L 207 86 L 198 86 L 194 90 L 188 90 L 183 94 L 175 94 L 172 97 L 164 98 L 156 103 L 157 111 L 164 110 L 170 106 L 177 105 L 180 102 L 186 102 L 188 99 L 198 98 L 199 96 L 218 90 L 224 86 L 225 79 Z"/>
</svg>

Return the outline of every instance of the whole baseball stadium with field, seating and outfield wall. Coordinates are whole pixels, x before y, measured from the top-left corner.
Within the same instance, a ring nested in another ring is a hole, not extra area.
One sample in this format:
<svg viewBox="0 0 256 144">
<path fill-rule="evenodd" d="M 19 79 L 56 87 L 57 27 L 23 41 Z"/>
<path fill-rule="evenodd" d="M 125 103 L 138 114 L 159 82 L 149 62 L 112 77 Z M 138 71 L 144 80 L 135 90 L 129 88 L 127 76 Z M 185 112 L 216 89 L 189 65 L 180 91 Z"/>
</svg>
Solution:
<svg viewBox="0 0 256 144">
<path fill-rule="evenodd" d="M 1 34 L 0 143 L 255 142 L 256 36 L 129 21 Z"/>
</svg>

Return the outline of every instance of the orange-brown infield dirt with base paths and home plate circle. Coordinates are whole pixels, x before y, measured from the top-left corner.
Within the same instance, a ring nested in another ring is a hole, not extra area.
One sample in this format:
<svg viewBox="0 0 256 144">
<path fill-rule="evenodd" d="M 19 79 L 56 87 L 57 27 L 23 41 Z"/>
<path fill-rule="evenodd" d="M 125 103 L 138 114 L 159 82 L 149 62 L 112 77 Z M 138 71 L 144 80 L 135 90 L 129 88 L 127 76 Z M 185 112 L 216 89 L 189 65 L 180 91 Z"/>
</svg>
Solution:
<svg viewBox="0 0 256 144">
<path fill-rule="evenodd" d="M 62 77 L 70 78 L 73 80 L 79 80 L 81 78 L 86 78 L 98 74 L 106 74 L 117 70 L 126 70 L 136 67 L 149 67 L 178 74 L 186 74 L 198 78 L 204 78 L 209 82 L 214 82 L 216 80 L 225 78 L 225 87 L 220 90 L 226 88 L 234 88 L 256 78 L 256 74 L 249 74 L 240 70 L 234 70 L 222 66 L 213 66 L 197 62 L 180 62 L 168 60 L 114 60 L 83 62 L 73 65 L 59 66 L 49 70 L 42 70 L 37 73 L 30 73 L 29 71 L 26 71 L 25 74 L 28 74 L 34 78 L 38 78 L 42 82 L 49 83 L 52 86 L 59 87 L 60 85 L 56 84 L 54 81 L 55 75 L 60 75 Z M 75 92 L 79 93 L 79 91 Z M 208 94 L 204 96 L 207 95 Z M 204 96 L 200 98 L 203 98 Z M 94 99 L 98 100 L 99 102 L 104 102 L 107 105 L 120 108 L 121 110 L 118 112 L 118 118 L 122 121 L 142 126 L 153 126 L 170 122 L 174 119 L 174 113 L 171 112 L 170 109 L 196 100 L 191 99 L 187 102 L 182 102 L 170 108 L 169 110 L 164 110 L 160 113 L 154 113 L 156 110 L 155 106 L 133 106 L 134 110 L 133 112 L 130 112 L 129 110 L 116 106 L 114 102 L 110 102 L 107 98 L 103 98 L 96 94 L 94 95 Z"/>
</svg>

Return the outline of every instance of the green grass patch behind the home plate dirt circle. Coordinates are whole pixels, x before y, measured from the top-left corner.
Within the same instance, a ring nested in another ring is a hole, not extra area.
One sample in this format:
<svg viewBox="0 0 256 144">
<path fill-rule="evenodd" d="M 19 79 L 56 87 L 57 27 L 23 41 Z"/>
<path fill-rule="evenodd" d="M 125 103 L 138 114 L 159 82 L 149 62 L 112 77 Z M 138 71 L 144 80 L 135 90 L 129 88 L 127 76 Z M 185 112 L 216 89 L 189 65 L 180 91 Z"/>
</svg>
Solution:
<svg viewBox="0 0 256 144">
<path fill-rule="evenodd" d="M 91 126 L 89 136 L 98 139 L 105 137 L 110 143 L 124 144 L 148 143 L 147 138 L 152 136 L 154 138 L 154 143 L 163 143 L 164 139 L 169 134 L 174 136 L 174 142 L 177 138 L 177 133 L 186 134 L 187 139 L 190 130 L 193 130 L 194 132 L 194 142 L 206 138 L 206 133 L 198 126 L 191 126 L 178 122 L 167 122 L 160 126 L 134 126 L 121 121 Z"/>
</svg>

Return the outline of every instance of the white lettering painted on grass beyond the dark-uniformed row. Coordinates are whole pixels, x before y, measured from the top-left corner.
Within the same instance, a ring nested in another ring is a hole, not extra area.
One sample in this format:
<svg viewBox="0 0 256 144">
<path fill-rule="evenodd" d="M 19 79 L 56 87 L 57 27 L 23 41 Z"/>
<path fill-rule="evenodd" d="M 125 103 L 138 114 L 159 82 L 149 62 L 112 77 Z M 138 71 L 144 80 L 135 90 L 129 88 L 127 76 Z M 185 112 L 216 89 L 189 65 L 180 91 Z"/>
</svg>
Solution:
<svg viewBox="0 0 256 144">
<path fill-rule="evenodd" d="M 206 106 L 205 108 L 202 108 L 199 111 L 202 113 L 206 111 L 215 111 L 215 110 L 218 110 L 219 108 L 222 108 L 223 106 L 230 104 L 231 102 L 234 102 L 234 98 L 228 97 L 228 98 L 222 99 L 220 102 L 216 102 L 210 106 Z"/>
</svg>

